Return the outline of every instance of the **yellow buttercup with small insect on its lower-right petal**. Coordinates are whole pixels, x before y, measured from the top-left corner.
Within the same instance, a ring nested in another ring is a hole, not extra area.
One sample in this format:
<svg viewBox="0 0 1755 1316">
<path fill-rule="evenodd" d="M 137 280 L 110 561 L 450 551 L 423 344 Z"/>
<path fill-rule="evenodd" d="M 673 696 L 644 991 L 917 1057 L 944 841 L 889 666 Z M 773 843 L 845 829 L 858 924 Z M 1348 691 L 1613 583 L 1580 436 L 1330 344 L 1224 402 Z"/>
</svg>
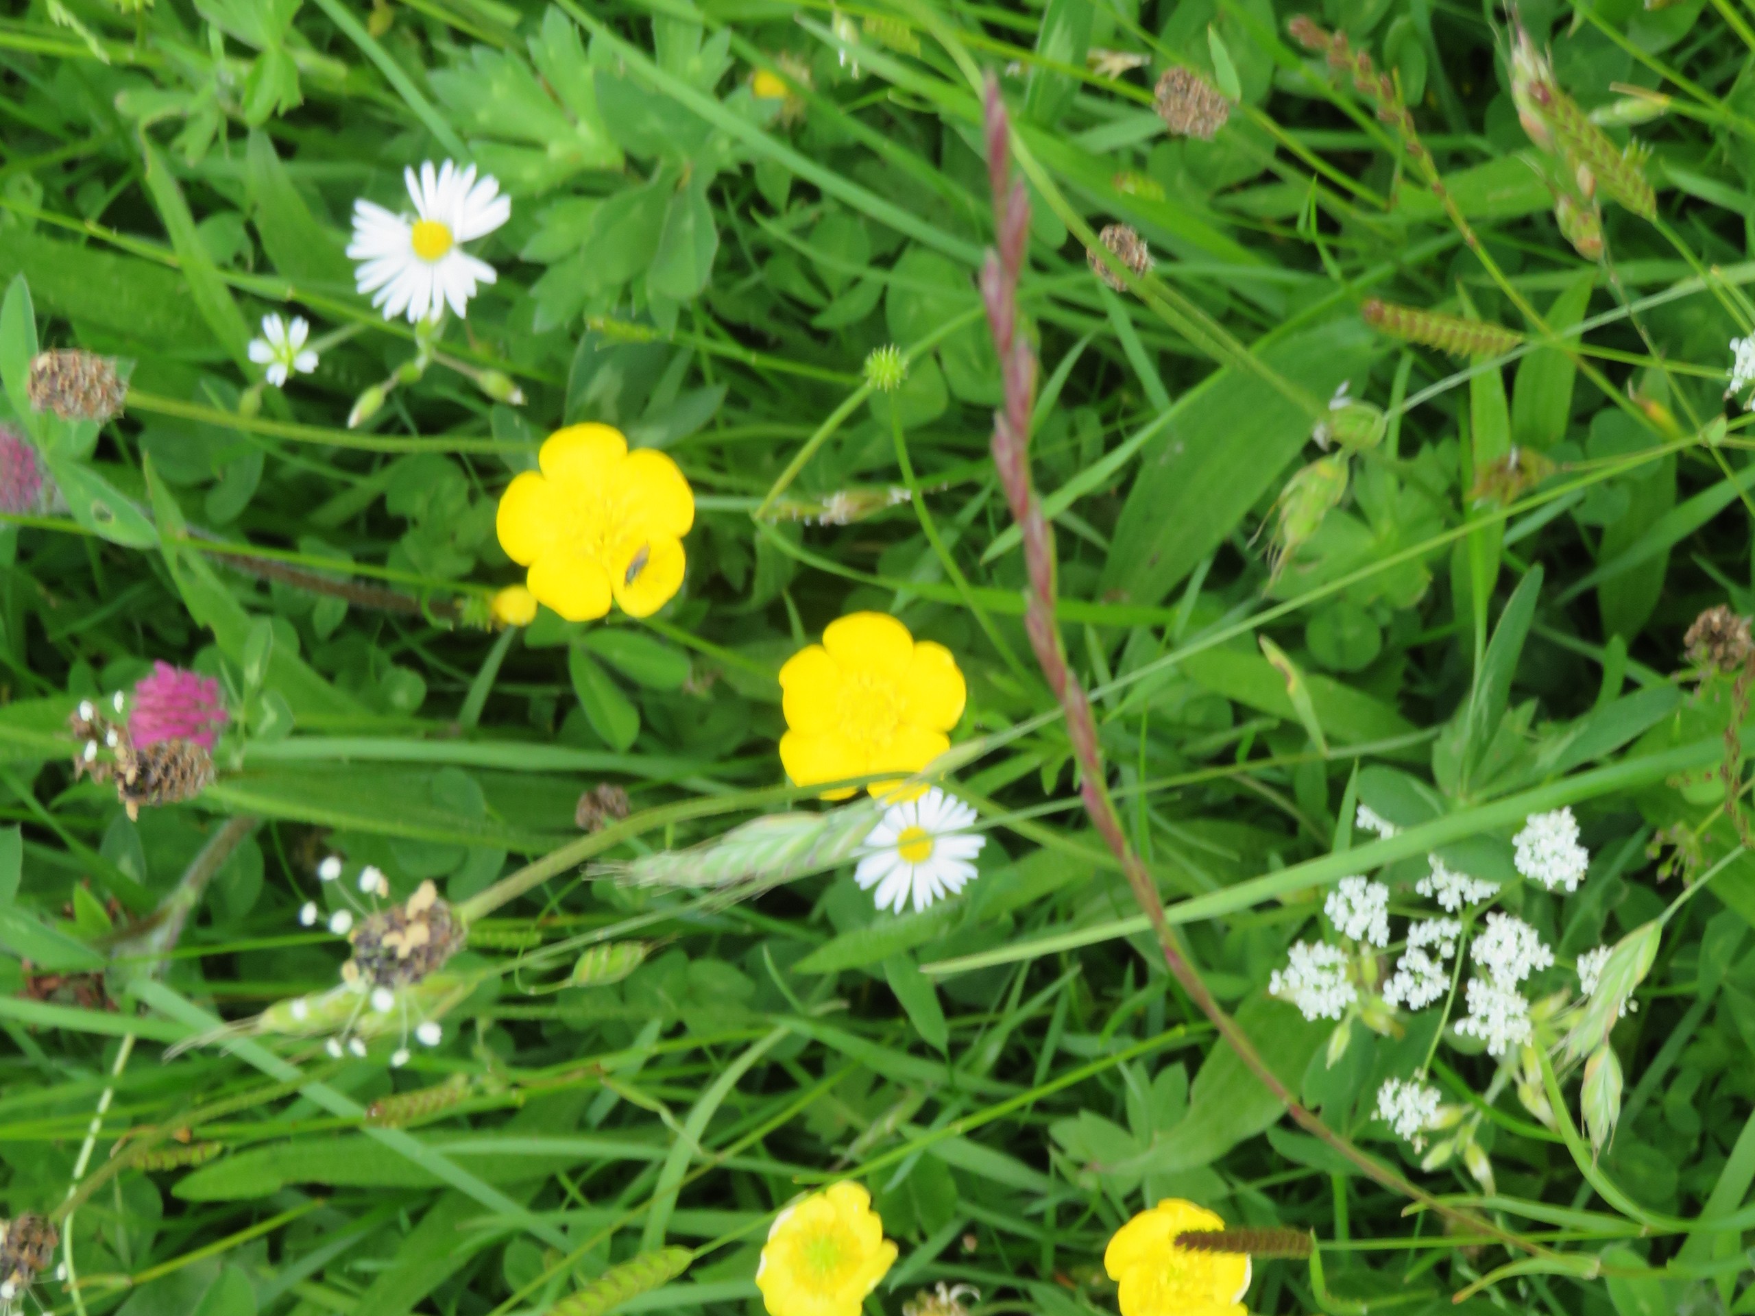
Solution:
<svg viewBox="0 0 1755 1316">
<path fill-rule="evenodd" d="M 628 451 L 609 425 L 569 425 L 500 495 L 495 530 L 539 604 L 591 621 L 614 598 L 646 618 L 683 586 L 683 535 L 695 495 L 663 453 Z"/>
</svg>

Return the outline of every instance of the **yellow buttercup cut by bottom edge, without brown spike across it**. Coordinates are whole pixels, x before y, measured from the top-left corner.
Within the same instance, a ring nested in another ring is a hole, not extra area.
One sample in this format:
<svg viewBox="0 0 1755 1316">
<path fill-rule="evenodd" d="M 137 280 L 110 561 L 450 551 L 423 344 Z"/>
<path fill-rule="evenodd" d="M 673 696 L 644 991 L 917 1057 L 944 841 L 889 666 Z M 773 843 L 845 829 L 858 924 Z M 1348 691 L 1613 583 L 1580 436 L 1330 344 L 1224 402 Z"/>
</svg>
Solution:
<svg viewBox="0 0 1755 1316">
<path fill-rule="evenodd" d="M 858 1316 L 895 1265 L 872 1198 L 837 1183 L 779 1212 L 762 1248 L 756 1288 L 769 1316 Z"/>
</svg>

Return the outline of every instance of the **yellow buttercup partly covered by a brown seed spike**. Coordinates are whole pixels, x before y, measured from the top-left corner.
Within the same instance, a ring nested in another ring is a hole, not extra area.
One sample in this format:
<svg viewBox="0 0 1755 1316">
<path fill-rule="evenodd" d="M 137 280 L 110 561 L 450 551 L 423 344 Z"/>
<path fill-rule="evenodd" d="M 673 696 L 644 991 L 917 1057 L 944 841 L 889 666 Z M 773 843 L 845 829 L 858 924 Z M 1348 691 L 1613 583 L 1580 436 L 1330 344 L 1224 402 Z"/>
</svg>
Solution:
<svg viewBox="0 0 1755 1316">
<path fill-rule="evenodd" d="M 1176 1246 L 1178 1234 L 1221 1228 L 1220 1216 L 1174 1197 L 1118 1228 L 1102 1269 L 1120 1284 L 1121 1316 L 1248 1316 L 1248 1256 Z"/>
</svg>

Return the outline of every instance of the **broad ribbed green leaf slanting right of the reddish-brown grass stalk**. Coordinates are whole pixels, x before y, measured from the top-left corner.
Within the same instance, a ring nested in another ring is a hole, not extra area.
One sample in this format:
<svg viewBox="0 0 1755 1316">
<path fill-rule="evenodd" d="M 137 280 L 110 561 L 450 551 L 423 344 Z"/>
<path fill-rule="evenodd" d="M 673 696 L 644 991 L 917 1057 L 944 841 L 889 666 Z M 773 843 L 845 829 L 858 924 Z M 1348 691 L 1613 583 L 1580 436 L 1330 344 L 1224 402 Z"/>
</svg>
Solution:
<svg viewBox="0 0 1755 1316">
<path fill-rule="evenodd" d="M 1306 330 L 1257 354 L 1325 398 L 1379 349 L 1365 325 L 1351 319 Z M 1276 390 L 1230 368 L 1214 370 L 1183 393 L 1165 430 L 1141 449 L 1099 593 L 1130 604 L 1164 600 L 1274 488 L 1309 442 L 1313 423 Z M 1244 537 L 1251 532 L 1244 530 Z"/>
</svg>

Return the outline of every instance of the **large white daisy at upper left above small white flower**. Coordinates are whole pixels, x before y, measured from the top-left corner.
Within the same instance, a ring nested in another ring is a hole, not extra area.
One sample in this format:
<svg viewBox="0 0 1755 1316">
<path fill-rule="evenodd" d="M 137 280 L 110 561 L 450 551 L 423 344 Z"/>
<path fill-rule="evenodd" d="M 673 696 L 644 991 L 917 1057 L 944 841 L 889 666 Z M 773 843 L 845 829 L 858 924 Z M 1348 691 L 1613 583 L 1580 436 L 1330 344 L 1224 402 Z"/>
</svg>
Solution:
<svg viewBox="0 0 1755 1316">
<path fill-rule="evenodd" d="M 498 275 L 484 260 L 463 251 L 463 242 L 486 237 L 512 216 L 498 181 L 476 167 L 446 160 L 437 170 L 428 160 L 419 175 L 402 172 L 416 219 L 391 214 L 367 200 L 353 204 L 353 242 L 347 258 L 360 261 L 355 281 L 362 293 L 376 291 L 372 305 L 384 319 L 407 314 L 411 323 L 437 316 L 446 304 L 465 314 L 476 284 Z"/>
</svg>

